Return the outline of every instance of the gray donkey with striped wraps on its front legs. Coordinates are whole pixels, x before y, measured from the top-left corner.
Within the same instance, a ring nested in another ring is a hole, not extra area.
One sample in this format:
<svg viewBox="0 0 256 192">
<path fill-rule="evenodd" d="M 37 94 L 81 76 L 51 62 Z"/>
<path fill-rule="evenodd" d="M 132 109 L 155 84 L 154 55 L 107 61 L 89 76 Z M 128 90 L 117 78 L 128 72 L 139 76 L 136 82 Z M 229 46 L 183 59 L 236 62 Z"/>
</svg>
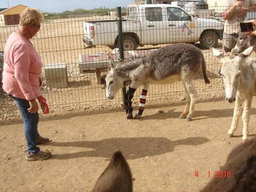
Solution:
<svg viewBox="0 0 256 192">
<path fill-rule="evenodd" d="M 124 107 L 128 119 L 132 119 L 132 98 L 135 90 L 142 85 L 140 104 L 135 118 L 143 113 L 149 84 L 167 84 L 181 80 L 186 91 L 186 106 L 180 118 L 191 120 L 194 112 L 196 90 L 192 83 L 193 77 L 200 66 L 205 83 L 210 83 L 207 77 L 206 65 L 202 52 L 191 44 L 172 44 L 141 58 L 124 60 L 116 66 L 109 58 L 110 68 L 106 76 L 106 96 L 113 99 L 123 86 L 125 80 L 132 80 L 125 95 Z"/>
</svg>

